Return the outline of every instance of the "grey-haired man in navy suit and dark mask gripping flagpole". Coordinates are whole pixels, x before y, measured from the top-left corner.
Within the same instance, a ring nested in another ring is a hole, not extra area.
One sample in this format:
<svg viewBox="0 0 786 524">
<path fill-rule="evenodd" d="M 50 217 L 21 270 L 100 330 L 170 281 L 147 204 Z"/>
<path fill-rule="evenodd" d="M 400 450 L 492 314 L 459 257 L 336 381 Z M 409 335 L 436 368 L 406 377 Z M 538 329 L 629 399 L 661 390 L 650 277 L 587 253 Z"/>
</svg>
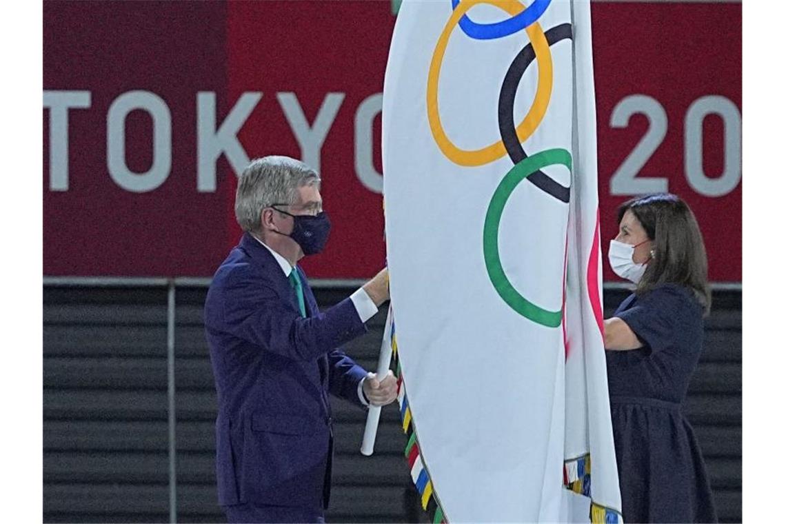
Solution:
<svg viewBox="0 0 786 524">
<path fill-rule="evenodd" d="M 383 269 L 321 312 L 297 262 L 330 224 L 318 174 L 285 156 L 255 159 L 235 200 L 245 233 L 213 277 L 204 320 L 219 398 L 219 504 L 230 522 L 325 522 L 332 416 L 328 394 L 358 406 L 395 399 L 340 349 L 389 297 Z"/>
</svg>

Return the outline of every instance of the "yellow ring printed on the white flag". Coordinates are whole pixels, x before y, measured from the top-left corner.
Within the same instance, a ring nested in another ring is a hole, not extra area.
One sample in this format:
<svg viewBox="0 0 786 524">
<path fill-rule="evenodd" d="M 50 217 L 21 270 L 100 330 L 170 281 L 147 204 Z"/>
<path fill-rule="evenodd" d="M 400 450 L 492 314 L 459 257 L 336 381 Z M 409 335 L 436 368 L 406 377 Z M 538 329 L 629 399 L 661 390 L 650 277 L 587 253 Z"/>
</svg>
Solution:
<svg viewBox="0 0 786 524">
<path fill-rule="evenodd" d="M 494 5 L 511 16 L 516 16 L 526 9 L 521 4 L 512 4 L 511 2 L 505 2 L 505 0 L 461 0 L 461 2 L 458 2 L 458 5 L 456 5 L 453 15 L 450 16 L 450 19 L 447 21 L 442 35 L 439 35 L 439 40 L 434 49 L 434 56 L 432 57 L 432 64 L 428 68 L 428 86 L 426 88 L 428 126 L 431 127 L 432 135 L 439 149 L 446 157 L 460 166 L 482 166 L 483 164 L 494 162 L 494 160 L 507 154 L 505 145 L 501 140 L 485 148 L 475 150 L 457 147 L 457 145 L 450 141 L 450 138 L 445 134 L 442 122 L 439 119 L 439 104 L 437 102 L 439 71 L 442 69 L 448 39 L 454 27 L 457 26 L 458 20 L 461 20 L 461 16 L 464 16 L 473 5 L 478 4 Z M 551 49 L 549 48 L 549 42 L 545 39 L 540 24 L 535 22 L 527 27 L 527 36 L 530 38 L 530 42 L 532 42 L 535 60 L 538 63 L 538 89 L 535 91 L 534 101 L 532 101 L 529 112 L 527 112 L 522 122 L 516 126 L 516 136 L 519 137 L 519 141 L 521 142 L 526 141 L 540 125 L 545 115 L 545 110 L 549 106 L 553 83 Z"/>
</svg>

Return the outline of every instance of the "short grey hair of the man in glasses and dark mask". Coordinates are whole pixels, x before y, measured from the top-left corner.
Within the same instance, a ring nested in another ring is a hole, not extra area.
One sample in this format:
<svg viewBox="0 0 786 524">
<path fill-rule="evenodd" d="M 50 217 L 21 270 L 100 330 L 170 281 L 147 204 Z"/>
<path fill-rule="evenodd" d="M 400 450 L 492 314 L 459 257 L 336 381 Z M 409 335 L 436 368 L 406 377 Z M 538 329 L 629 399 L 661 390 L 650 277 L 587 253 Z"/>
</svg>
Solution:
<svg viewBox="0 0 786 524">
<path fill-rule="evenodd" d="M 235 218 L 244 231 L 259 232 L 262 210 L 277 203 L 296 203 L 298 188 L 317 185 L 317 172 L 288 156 L 253 159 L 237 181 Z"/>
</svg>

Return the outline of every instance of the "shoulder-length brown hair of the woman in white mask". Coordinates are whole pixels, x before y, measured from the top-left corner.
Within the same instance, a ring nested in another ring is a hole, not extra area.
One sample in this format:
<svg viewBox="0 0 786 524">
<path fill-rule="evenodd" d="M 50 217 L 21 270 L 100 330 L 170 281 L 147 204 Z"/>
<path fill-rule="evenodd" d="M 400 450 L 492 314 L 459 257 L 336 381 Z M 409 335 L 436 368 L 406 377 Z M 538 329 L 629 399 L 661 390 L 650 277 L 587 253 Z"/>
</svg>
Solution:
<svg viewBox="0 0 786 524">
<path fill-rule="evenodd" d="M 688 204 L 671 193 L 640 196 L 619 207 L 618 224 L 628 210 L 641 223 L 655 251 L 637 285 L 637 295 L 659 284 L 679 284 L 693 291 L 706 316 L 711 306 L 707 251 Z"/>
</svg>

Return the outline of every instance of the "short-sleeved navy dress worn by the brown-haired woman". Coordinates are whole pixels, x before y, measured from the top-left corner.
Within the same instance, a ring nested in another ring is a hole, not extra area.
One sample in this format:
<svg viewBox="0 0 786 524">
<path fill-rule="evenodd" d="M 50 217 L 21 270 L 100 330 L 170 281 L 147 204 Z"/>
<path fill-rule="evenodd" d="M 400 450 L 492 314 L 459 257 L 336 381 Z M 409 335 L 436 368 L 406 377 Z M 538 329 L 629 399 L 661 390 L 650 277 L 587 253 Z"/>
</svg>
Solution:
<svg viewBox="0 0 786 524">
<path fill-rule="evenodd" d="M 644 347 L 606 351 L 625 522 L 718 522 L 707 469 L 681 404 L 696 369 L 703 311 L 687 288 L 630 295 L 614 313 Z"/>
</svg>

